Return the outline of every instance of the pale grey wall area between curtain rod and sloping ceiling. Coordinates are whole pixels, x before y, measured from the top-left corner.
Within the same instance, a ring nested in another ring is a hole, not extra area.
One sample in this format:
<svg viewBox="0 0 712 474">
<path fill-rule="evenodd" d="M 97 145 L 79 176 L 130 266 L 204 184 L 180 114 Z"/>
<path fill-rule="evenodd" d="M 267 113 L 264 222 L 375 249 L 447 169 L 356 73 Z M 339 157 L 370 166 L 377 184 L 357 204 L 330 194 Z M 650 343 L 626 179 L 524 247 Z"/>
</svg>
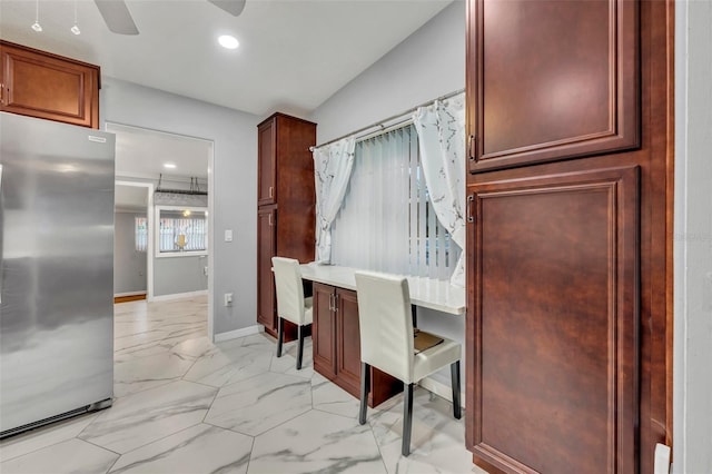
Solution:
<svg viewBox="0 0 712 474">
<path fill-rule="evenodd" d="M 453 2 L 319 106 L 317 144 L 465 87 L 465 2 Z"/>
</svg>

